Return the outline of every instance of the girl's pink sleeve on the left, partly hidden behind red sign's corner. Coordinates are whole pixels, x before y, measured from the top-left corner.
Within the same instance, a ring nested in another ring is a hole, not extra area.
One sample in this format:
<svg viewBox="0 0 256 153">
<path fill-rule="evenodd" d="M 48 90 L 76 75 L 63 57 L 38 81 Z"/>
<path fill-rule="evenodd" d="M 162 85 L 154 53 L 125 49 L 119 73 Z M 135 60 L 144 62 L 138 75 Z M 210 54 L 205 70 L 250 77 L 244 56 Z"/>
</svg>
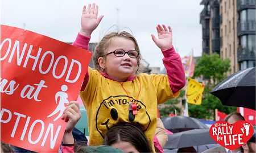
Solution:
<svg viewBox="0 0 256 153">
<path fill-rule="evenodd" d="M 77 34 L 76 40 L 75 40 L 75 42 L 73 42 L 73 46 L 88 50 L 89 49 L 89 42 L 90 42 L 90 37 L 86 37 L 86 36 Z M 86 86 L 88 80 L 89 80 L 89 73 L 86 72 L 84 82 L 82 82 L 82 86 L 81 86 L 81 89 L 80 89 L 81 91 L 83 91 L 85 89 L 85 86 Z"/>
</svg>

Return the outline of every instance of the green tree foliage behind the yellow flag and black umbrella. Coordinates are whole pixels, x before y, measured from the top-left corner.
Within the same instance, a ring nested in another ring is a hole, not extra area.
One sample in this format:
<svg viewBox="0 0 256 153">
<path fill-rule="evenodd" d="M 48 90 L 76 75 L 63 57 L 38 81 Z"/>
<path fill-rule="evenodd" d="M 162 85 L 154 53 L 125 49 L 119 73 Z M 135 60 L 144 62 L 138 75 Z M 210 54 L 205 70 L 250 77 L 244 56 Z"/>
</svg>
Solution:
<svg viewBox="0 0 256 153">
<path fill-rule="evenodd" d="M 195 65 L 194 78 L 203 77 L 205 89 L 201 105 L 188 105 L 189 115 L 195 118 L 214 119 L 214 110 L 218 109 L 226 114 L 236 110 L 236 107 L 224 106 L 217 97 L 209 92 L 226 77 L 230 67 L 229 59 L 220 59 L 216 53 L 199 57 Z"/>
</svg>

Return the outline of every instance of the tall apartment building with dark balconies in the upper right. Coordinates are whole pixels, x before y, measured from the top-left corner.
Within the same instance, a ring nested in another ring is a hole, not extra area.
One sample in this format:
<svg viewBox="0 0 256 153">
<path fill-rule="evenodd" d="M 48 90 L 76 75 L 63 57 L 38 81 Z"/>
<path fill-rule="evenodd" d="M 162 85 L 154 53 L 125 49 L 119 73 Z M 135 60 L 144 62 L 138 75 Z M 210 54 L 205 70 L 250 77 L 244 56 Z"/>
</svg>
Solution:
<svg viewBox="0 0 256 153">
<path fill-rule="evenodd" d="M 230 59 L 231 71 L 228 75 L 255 67 L 255 0 L 203 0 L 200 4 L 204 5 L 200 14 L 203 52 L 206 39 L 204 29 L 207 28 L 204 22 L 209 19 L 209 53 L 217 52 L 215 47 L 219 42 L 220 57 Z M 208 16 L 203 16 L 205 9 L 210 13 Z"/>
</svg>

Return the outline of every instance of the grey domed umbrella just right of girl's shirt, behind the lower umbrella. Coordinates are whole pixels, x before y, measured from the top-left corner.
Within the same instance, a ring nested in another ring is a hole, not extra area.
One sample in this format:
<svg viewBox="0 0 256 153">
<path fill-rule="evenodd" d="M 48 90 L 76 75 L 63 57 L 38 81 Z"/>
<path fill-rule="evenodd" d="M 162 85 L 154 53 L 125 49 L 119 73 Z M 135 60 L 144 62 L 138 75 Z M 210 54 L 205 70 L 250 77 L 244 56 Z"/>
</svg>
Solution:
<svg viewBox="0 0 256 153">
<path fill-rule="evenodd" d="M 163 125 L 166 129 L 172 131 L 173 133 L 191 129 L 209 129 L 204 123 L 200 122 L 196 118 L 175 116 L 166 117 L 162 119 Z M 178 129 L 175 130 L 175 129 Z"/>
</svg>

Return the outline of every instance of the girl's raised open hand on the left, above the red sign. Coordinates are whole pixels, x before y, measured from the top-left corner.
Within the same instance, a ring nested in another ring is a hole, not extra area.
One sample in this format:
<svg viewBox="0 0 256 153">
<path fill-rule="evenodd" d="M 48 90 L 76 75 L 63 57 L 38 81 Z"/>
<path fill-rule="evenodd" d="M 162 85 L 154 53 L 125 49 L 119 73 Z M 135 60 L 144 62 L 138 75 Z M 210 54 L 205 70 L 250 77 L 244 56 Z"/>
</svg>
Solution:
<svg viewBox="0 0 256 153">
<path fill-rule="evenodd" d="M 81 30 L 79 34 L 90 37 L 103 17 L 104 15 L 98 16 L 98 6 L 95 3 L 92 5 L 89 4 L 87 10 L 86 6 L 84 6 L 82 9 Z"/>
</svg>

